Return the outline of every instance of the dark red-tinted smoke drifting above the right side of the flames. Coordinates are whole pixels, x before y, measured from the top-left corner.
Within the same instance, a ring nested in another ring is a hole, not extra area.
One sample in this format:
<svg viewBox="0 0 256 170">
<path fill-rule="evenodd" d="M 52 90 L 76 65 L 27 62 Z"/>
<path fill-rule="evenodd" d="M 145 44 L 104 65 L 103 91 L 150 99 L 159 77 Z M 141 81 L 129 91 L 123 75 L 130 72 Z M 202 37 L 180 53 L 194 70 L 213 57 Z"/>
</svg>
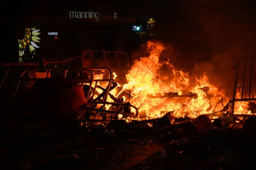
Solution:
<svg viewBox="0 0 256 170">
<path fill-rule="evenodd" d="M 256 24 L 250 4 L 187 1 L 176 7 L 180 9 L 176 19 L 157 23 L 155 39 L 164 40 L 165 51 L 172 51 L 161 55 L 169 56 L 177 69 L 188 71 L 191 77 L 207 72 L 209 82 L 232 97 L 233 66 L 240 57 L 256 55 Z"/>
</svg>

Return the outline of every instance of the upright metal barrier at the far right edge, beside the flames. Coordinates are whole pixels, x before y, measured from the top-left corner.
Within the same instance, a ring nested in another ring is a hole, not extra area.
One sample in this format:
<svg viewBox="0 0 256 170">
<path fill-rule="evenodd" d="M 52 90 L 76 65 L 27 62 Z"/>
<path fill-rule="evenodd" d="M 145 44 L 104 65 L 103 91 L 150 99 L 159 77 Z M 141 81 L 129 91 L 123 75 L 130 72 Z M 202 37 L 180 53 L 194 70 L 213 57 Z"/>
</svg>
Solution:
<svg viewBox="0 0 256 170">
<path fill-rule="evenodd" d="M 252 97 L 252 90 L 256 90 L 256 88 L 252 89 L 252 82 L 253 82 L 253 70 L 254 65 L 255 65 L 255 60 L 256 60 L 256 56 L 253 57 L 241 57 L 237 63 L 236 63 L 236 76 L 235 76 L 235 83 L 234 83 L 234 91 L 233 91 L 233 99 L 231 100 L 231 112 L 234 113 L 234 107 L 235 107 L 235 102 L 248 102 L 248 101 L 256 101 L 255 97 Z M 242 61 L 244 61 L 244 64 L 241 63 Z M 240 67 L 241 64 L 243 64 L 241 71 L 240 72 Z M 249 68 L 248 68 L 249 65 Z M 247 77 L 247 72 L 250 72 L 250 76 Z M 240 75 L 241 74 L 241 75 Z M 254 74 L 256 75 L 256 74 Z M 242 80 L 241 83 L 239 82 L 239 76 L 241 76 Z M 248 81 L 249 80 L 249 81 Z M 255 82 L 253 82 L 255 83 Z M 238 85 L 241 85 L 241 97 L 237 98 L 237 87 Z M 256 85 L 256 84 L 255 84 Z M 247 96 L 246 96 L 246 92 L 247 92 Z M 256 95 L 256 94 L 254 94 Z M 242 116 L 242 117 L 251 117 L 254 115 L 238 115 L 236 114 L 237 117 Z"/>
</svg>

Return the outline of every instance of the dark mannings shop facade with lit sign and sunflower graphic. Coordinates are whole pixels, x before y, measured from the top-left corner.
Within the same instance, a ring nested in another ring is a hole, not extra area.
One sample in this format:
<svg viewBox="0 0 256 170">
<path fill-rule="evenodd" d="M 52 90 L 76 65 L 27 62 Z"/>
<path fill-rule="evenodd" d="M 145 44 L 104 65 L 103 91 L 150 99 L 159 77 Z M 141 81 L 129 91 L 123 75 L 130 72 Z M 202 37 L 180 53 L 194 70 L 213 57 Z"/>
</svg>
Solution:
<svg viewBox="0 0 256 170">
<path fill-rule="evenodd" d="M 130 53 L 139 46 L 132 26 L 147 29 L 146 14 L 118 6 L 47 1 L 20 6 L 22 10 L 9 11 L 11 17 L 2 16 L 1 30 L 6 34 L 1 40 L 1 62 L 21 62 L 26 46 L 36 61 L 77 56 L 85 49 Z M 135 23 L 137 18 L 140 23 Z"/>
</svg>

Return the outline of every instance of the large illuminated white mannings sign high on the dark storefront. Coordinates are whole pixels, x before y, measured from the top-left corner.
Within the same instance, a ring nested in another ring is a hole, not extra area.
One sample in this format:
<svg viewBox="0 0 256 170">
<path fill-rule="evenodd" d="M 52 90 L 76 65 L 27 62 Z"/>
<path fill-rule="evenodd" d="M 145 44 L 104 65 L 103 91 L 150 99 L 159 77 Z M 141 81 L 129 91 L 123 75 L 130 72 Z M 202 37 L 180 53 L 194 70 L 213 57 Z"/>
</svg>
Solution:
<svg viewBox="0 0 256 170">
<path fill-rule="evenodd" d="M 99 21 L 100 18 L 103 17 L 113 17 L 114 19 L 117 18 L 117 13 L 103 13 L 103 12 L 93 12 L 89 11 L 70 11 L 70 18 L 84 18 L 84 19 L 95 19 Z"/>
</svg>

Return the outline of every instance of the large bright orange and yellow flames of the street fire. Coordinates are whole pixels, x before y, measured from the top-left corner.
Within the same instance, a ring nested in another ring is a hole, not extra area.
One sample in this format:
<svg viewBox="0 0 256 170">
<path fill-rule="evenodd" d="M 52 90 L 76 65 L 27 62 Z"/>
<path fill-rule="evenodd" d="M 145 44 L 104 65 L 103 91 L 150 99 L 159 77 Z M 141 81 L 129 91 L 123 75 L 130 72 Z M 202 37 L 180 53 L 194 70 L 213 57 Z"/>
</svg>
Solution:
<svg viewBox="0 0 256 170">
<path fill-rule="evenodd" d="M 159 57 L 164 49 L 161 43 L 148 42 L 150 55 L 135 60 L 126 75 L 127 83 L 122 85 L 119 93 L 111 91 L 111 94 L 131 94 L 128 99 L 124 99 L 125 102 L 139 108 L 139 112 L 144 113 L 147 119 L 161 117 L 169 111 L 175 117 L 195 118 L 219 111 L 227 104 L 229 99 L 224 91 L 219 90 L 218 85 L 209 83 L 207 73 L 192 79 L 188 73 L 175 70 L 169 61 L 160 62 Z M 101 79 L 103 74 L 99 77 Z M 246 102 L 236 105 L 236 113 L 248 113 L 246 106 Z"/>
</svg>

